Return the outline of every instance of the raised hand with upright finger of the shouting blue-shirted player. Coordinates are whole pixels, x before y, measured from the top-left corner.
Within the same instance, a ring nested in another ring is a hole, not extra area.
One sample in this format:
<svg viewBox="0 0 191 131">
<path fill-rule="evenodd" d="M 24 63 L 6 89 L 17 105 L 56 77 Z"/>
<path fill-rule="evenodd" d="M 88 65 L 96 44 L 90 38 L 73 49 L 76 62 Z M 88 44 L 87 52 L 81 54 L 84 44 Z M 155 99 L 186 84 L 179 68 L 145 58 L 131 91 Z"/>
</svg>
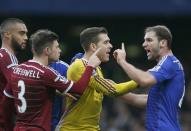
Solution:
<svg viewBox="0 0 191 131">
<path fill-rule="evenodd" d="M 116 59 L 117 63 L 120 63 L 121 60 L 125 60 L 126 52 L 125 52 L 124 43 L 121 44 L 121 49 L 116 49 L 113 52 L 113 56 Z"/>
</svg>

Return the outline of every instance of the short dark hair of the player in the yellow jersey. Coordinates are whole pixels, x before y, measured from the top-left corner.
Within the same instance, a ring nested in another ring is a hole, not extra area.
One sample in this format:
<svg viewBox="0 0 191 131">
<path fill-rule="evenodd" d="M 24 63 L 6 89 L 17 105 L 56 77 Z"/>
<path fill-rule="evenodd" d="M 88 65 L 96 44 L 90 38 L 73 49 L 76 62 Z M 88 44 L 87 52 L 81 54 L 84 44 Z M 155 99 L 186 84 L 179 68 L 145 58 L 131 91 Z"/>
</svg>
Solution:
<svg viewBox="0 0 191 131">
<path fill-rule="evenodd" d="M 101 33 L 108 34 L 105 27 L 91 27 L 86 28 L 80 33 L 80 43 L 82 48 L 86 51 L 89 49 L 91 43 L 97 43 L 99 41 L 98 35 Z"/>
</svg>

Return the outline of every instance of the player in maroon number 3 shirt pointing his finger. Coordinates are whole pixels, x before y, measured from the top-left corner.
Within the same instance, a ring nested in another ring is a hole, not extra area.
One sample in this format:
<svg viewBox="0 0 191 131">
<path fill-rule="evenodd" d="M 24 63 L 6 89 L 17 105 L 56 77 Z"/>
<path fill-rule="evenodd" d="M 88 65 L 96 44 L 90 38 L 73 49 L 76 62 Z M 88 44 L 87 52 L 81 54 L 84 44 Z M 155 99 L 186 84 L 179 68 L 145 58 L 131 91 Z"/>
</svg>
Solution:
<svg viewBox="0 0 191 131">
<path fill-rule="evenodd" d="M 50 131 L 53 96 L 55 89 L 61 93 L 82 94 L 93 68 L 101 61 L 98 49 L 88 61 L 84 74 L 77 82 L 67 80 L 48 67 L 60 56 L 58 35 L 49 30 L 38 30 L 31 37 L 33 59 L 13 68 L 11 81 L 5 95 L 14 98 L 17 109 L 15 131 Z"/>
</svg>

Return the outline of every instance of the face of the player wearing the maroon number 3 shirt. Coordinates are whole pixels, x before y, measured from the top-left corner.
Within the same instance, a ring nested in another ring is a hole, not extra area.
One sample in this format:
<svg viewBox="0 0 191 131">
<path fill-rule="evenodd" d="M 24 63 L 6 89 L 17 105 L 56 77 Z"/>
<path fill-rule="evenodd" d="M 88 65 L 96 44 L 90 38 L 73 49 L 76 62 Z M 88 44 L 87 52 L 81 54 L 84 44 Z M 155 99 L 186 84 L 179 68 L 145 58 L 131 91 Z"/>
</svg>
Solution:
<svg viewBox="0 0 191 131">
<path fill-rule="evenodd" d="M 60 52 L 61 50 L 59 47 L 59 43 L 57 40 L 54 40 L 52 46 L 49 48 L 49 63 L 57 61 L 60 58 Z"/>
</svg>

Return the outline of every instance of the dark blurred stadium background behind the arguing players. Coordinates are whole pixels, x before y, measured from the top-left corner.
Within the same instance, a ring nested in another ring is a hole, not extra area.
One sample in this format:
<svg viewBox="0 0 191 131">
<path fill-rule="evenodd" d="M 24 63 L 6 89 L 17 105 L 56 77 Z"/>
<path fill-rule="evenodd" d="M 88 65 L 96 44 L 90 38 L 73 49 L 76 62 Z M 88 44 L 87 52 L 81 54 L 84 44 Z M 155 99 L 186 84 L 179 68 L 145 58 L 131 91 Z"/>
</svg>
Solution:
<svg viewBox="0 0 191 131">
<path fill-rule="evenodd" d="M 29 35 L 40 28 L 60 36 L 61 59 L 69 63 L 77 52 L 83 52 L 79 33 L 91 26 L 104 26 L 109 31 L 113 50 L 125 43 L 128 60 L 141 69 L 152 67 L 142 48 L 144 28 L 164 24 L 173 34 L 172 49 L 182 62 L 186 75 L 186 95 L 180 120 L 183 131 L 191 130 L 191 1 L 189 0 L 1 0 L 0 22 L 18 17 L 26 23 Z M 24 61 L 32 57 L 30 48 L 19 55 Z M 111 56 L 102 65 L 106 78 L 116 82 L 129 80 Z M 137 93 L 146 92 L 136 91 Z M 101 115 L 103 131 L 143 131 L 144 109 L 126 104 L 120 98 L 105 98 Z"/>
</svg>

